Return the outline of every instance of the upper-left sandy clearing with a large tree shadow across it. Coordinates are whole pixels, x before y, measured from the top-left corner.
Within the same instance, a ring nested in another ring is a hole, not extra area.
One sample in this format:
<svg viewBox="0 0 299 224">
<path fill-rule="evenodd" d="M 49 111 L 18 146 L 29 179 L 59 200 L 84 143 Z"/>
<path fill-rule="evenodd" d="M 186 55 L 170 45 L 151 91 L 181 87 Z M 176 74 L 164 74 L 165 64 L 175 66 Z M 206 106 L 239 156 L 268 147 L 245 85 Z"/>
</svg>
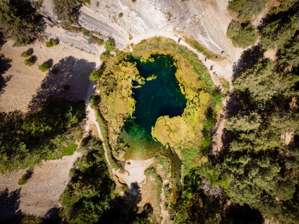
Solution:
<svg viewBox="0 0 299 224">
<path fill-rule="evenodd" d="M 0 95 L 0 111 L 8 112 L 21 110 L 26 112 L 28 104 L 45 97 L 66 97 L 70 100 L 86 99 L 88 89 L 92 87 L 89 74 L 100 65 L 98 55 L 87 53 L 83 50 L 71 47 L 60 42 L 51 48 L 44 43 L 35 42 L 25 47 L 12 47 L 12 42 L 6 42 L 0 54 L 10 59 L 11 67 L 2 76 L 8 77 L 8 81 Z M 33 56 L 37 61 L 31 65 L 24 64 L 20 54 L 33 49 Z M 58 70 L 57 75 L 39 71 L 38 65 L 48 61 L 52 68 Z M 64 85 L 70 89 L 65 91 Z"/>
</svg>

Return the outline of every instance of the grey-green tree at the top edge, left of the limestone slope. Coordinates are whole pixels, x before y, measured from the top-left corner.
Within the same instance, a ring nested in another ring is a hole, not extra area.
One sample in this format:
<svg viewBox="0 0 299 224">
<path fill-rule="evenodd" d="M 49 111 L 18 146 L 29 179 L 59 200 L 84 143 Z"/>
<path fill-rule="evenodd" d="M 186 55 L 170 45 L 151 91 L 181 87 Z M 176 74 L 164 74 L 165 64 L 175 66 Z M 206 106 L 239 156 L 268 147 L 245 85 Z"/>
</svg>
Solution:
<svg viewBox="0 0 299 224">
<path fill-rule="evenodd" d="M 75 0 L 53 0 L 54 13 L 64 25 L 77 23 L 78 4 Z"/>
</svg>

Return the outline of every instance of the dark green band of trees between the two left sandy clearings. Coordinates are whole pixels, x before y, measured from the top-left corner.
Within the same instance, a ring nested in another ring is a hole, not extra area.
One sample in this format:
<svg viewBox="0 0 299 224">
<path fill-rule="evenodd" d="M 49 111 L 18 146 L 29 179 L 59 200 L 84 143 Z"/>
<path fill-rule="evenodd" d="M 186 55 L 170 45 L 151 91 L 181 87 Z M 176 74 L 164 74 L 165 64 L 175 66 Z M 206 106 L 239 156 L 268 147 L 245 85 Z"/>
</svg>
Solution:
<svg viewBox="0 0 299 224">
<path fill-rule="evenodd" d="M 61 158 L 62 148 L 82 136 L 85 107 L 82 101 L 48 99 L 39 110 L 0 112 L 0 118 L 0 172 L 5 173 Z"/>
</svg>

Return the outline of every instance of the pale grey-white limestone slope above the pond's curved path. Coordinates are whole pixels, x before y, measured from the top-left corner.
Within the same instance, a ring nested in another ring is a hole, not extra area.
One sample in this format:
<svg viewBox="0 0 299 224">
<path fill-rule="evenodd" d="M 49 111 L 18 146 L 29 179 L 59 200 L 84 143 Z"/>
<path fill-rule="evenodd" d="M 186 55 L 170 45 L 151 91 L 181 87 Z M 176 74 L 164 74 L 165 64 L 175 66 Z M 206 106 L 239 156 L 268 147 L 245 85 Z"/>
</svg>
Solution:
<svg viewBox="0 0 299 224">
<path fill-rule="evenodd" d="M 112 37 L 118 48 L 129 43 L 129 35 L 149 30 L 182 31 L 215 53 L 224 50 L 234 61 L 236 48 L 226 37 L 232 19 L 227 5 L 227 0 L 91 0 L 80 7 L 78 23 Z M 44 0 L 40 11 L 57 20 L 52 0 Z M 121 18 L 119 13 L 123 13 Z"/>
</svg>

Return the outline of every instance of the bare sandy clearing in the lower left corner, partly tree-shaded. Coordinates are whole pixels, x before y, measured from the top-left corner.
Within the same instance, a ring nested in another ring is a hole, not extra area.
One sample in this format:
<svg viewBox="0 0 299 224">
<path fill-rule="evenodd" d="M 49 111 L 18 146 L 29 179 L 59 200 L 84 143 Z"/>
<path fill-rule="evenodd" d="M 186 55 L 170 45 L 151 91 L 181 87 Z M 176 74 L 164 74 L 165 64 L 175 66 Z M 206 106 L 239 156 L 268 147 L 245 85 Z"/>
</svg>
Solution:
<svg viewBox="0 0 299 224">
<path fill-rule="evenodd" d="M 0 221 L 19 210 L 36 216 L 57 216 L 55 213 L 58 209 L 55 208 L 60 207 L 59 196 L 68 183 L 69 170 L 80 156 L 80 153 L 75 152 L 62 159 L 44 161 L 42 166 L 34 168 L 32 177 L 22 186 L 18 185 L 18 179 L 26 173 L 26 170 L 12 172 L 9 176 L 1 175 Z M 6 188 L 10 195 L 3 198 L 3 191 Z M 54 214 L 49 214 L 51 209 Z"/>
</svg>

